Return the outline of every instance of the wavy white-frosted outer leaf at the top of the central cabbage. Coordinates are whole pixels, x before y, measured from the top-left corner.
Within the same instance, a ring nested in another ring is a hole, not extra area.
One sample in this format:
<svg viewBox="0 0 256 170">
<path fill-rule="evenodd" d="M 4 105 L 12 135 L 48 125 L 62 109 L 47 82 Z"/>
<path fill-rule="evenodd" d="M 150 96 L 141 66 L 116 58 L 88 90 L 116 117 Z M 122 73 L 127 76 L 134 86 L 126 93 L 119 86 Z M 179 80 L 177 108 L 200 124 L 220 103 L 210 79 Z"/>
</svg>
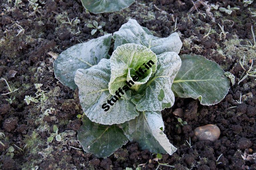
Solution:
<svg viewBox="0 0 256 170">
<path fill-rule="evenodd" d="M 129 19 L 127 23 L 123 24 L 118 31 L 114 32 L 113 37 L 115 39 L 115 49 L 122 44 L 135 43 L 150 47 L 158 55 L 171 51 L 179 54 L 182 47 L 178 33 L 172 33 L 166 38 L 158 38 L 150 35 L 150 32 L 141 27 L 134 19 Z"/>
</svg>

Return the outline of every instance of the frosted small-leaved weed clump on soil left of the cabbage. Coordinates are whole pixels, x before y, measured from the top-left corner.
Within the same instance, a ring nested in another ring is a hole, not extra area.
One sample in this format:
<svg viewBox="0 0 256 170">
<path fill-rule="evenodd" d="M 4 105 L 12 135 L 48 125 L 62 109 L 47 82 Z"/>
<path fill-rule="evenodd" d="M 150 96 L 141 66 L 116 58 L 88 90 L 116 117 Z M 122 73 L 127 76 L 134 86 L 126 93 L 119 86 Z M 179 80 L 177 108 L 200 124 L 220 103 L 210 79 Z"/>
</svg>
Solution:
<svg viewBox="0 0 256 170">
<path fill-rule="evenodd" d="M 45 96 L 46 95 L 46 91 L 44 90 L 41 90 L 41 86 L 43 84 L 35 84 L 35 87 L 37 89 L 37 92 L 35 93 L 36 97 L 31 97 L 30 96 L 25 96 L 25 102 L 27 103 L 27 105 L 30 104 L 30 102 L 35 102 L 35 103 L 38 103 L 39 101 L 40 102 L 45 102 L 49 97 L 48 96 Z"/>
</svg>

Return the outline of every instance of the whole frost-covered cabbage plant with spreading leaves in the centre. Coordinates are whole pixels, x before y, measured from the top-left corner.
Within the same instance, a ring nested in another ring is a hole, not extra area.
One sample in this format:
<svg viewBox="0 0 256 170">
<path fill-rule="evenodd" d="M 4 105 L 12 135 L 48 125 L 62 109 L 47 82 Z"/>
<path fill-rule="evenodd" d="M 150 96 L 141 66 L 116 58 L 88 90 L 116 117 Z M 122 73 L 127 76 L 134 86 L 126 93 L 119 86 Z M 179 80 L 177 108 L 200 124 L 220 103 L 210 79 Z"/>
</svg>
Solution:
<svg viewBox="0 0 256 170">
<path fill-rule="evenodd" d="M 114 52 L 108 54 L 111 39 Z M 85 116 L 78 140 L 86 152 L 111 155 L 128 140 L 152 153 L 172 154 L 176 148 L 164 134 L 161 111 L 174 104 L 174 96 L 199 99 L 203 105 L 220 102 L 229 80 L 220 66 L 202 56 L 178 56 L 178 33 L 158 38 L 130 19 L 113 34 L 76 44 L 54 61 L 57 79 L 79 89 Z M 155 64 L 121 97 L 114 97 L 126 81 L 149 60 Z M 116 102 L 107 111 L 108 100 Z"/>
</svg>

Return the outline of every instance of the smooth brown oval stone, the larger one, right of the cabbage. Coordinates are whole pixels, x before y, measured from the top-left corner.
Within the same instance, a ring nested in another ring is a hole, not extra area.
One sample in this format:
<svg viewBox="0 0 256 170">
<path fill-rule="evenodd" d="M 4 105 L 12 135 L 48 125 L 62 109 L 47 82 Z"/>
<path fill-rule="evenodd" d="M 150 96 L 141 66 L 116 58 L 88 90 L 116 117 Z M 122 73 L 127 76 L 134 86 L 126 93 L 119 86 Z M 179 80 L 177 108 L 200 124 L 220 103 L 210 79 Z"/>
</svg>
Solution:
<svg viewBox="0 0 256 170">
<path fill-rule="evenodd" d="M 219 127 L 213 124 L 197 127 L 194 132 L 195 136 L 200 141 L 209 140 L 213 142 L 220 137 Z"/>
</svg>

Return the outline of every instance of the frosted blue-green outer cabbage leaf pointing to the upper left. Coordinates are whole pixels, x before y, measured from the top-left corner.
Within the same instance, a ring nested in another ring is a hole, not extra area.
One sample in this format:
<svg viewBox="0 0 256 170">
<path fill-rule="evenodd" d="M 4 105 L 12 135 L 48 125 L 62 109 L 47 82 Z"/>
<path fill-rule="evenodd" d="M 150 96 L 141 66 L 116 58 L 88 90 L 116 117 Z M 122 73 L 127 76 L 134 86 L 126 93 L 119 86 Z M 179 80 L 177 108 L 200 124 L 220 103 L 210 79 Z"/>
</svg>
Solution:
<svg viewBox="0 0 256 170">
<path fill-rule="evenodd" d="M 63 51 L 53 63 L 55 77 L 71 89 L 76 89 L 74 82 L 76 70 L 86 69 L 107 58 L 111 43 L 111 34 L 76 44 Z"/>
</svg>

